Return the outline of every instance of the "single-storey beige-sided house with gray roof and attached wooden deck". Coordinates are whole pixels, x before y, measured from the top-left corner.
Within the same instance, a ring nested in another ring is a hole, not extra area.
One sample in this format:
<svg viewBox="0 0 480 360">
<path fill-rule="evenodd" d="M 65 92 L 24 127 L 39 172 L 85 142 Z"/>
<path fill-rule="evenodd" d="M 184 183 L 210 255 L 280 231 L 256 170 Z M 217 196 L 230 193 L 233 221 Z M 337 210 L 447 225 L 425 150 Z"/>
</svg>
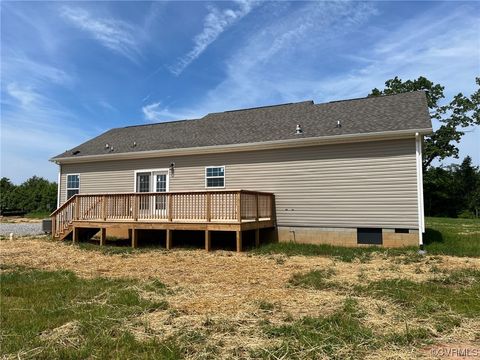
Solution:
<svg viewBox="0 0 480 360">
<path fill-rule="evenodd" d="M 431 132 L 422 91 L 115 128 L 51 159 L 54 237 L 100 229 L 103 243 L 115 228 L 136 246 L 153 229 L 169 248 L 172 232 L 200 230 L 209 249 L 211 231 L 226 230 L 240 250 L 251 230 L 257 243 L 422 244 Z"/>
</svg>

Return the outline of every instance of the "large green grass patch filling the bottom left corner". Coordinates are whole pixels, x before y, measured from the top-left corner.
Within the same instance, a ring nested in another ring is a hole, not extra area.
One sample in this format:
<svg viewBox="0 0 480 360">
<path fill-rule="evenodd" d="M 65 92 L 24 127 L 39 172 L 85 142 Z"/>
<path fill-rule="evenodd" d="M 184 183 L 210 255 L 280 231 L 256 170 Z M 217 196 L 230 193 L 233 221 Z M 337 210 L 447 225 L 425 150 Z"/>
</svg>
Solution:
<svg viewBox="0 0 480 360">
<path fill-rule="evenodd" d="M 182 357 L 174 340 L 139 342 L 124 327 L 132 317 L 168 306 L 165 300 L 146 300 L 139 295 L 141 289 L 162 296 L 166 287 L 158 281 L 81 279 L 68 271 L 7 268 L 1 284 L 2 356 Z"/>
</svg>

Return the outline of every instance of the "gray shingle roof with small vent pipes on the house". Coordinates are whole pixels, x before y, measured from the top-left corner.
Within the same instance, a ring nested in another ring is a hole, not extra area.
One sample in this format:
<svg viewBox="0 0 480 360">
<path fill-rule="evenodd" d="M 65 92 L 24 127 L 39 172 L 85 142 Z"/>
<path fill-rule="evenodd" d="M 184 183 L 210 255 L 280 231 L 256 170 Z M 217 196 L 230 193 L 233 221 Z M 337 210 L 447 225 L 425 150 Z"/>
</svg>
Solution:
<svg viewBox="0 0 480 360">
<path fill-rule="evenodd" d="M 340 121 L 341 127 L 336 127 Z M 301 124 L 302 135 L 295 134 Z M 324 104 L 313 101 L 208 114 L 201 119 L 111 129 L 52 160 L 148 150 L 429 129 L 423 91 Z M 133 143 L 136 143 L 136 146 Z"/>
</svg>

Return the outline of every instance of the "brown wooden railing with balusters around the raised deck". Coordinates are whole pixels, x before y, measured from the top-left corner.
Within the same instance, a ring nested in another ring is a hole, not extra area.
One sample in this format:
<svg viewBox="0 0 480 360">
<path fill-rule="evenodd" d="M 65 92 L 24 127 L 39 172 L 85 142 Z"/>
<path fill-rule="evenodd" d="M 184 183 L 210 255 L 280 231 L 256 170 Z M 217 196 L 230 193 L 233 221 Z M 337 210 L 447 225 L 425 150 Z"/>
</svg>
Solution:
<svg viewBox="0 0 480 360">
<path fill-rule="evenodd" d="M 77 194 L 52 213 L 58 237 L 73 221 L 226 222 L 273 220 L 274 195 L 247 190 Z"/>
</svg>

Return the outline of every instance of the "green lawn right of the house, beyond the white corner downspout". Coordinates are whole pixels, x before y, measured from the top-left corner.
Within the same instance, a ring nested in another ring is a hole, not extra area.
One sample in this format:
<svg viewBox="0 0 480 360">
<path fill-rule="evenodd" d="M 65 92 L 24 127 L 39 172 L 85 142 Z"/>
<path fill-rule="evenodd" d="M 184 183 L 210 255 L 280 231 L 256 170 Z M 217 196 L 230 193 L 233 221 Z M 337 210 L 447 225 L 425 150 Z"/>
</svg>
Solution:
<svg viewBox="0 0 480 360">
<path fill-rule="evenodd" d="M 480 219 L 427 218 L 426 225 L 429 254 L 480 256 Z"/>
</svg>

